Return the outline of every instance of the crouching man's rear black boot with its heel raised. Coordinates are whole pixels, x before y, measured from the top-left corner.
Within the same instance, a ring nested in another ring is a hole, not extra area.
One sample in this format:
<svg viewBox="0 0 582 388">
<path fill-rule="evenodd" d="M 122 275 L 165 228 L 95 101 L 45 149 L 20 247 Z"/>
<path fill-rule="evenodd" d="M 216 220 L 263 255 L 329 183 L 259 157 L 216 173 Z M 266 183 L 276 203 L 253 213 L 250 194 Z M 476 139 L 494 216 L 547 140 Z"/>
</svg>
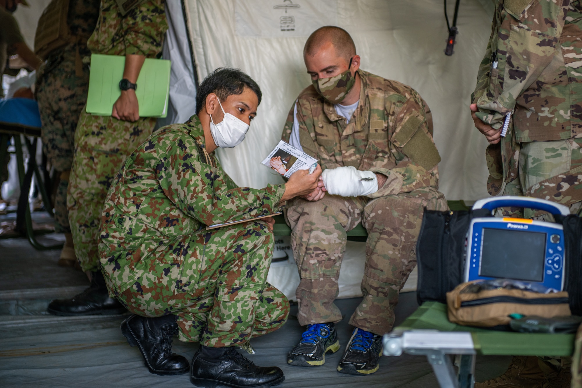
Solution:
<svg viewBox="0 0 582 388">
<path fill-rule="evenodd" d="M 121 332 L 130 345 L 139 347 L 151 373 L 164 376 L 188 372 L 190 365 L 186 357 L 172 353 L 172 336 L 178 334 L 175 316 L 132 315 L 121 323 Z"/>
</svg>

